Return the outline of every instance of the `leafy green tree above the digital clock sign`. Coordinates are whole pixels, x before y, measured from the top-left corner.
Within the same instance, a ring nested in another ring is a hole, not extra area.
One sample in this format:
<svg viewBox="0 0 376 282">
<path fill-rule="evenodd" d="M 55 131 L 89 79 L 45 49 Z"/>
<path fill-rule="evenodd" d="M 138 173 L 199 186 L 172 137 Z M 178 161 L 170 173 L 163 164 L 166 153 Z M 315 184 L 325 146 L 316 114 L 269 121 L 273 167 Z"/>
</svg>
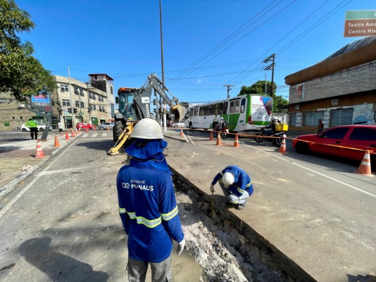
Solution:
<svg viewBox="0 0 376 282">
<path fill-rule="evenodd" d="M 34 26 L 30 15 L 14 0 L 0 0 L 0 92 L 10 93 L 19 101 L 56 88 L 50 71 L 32 56 L 32 44 L 22 43 L 18 36 Z"/>
</svg>

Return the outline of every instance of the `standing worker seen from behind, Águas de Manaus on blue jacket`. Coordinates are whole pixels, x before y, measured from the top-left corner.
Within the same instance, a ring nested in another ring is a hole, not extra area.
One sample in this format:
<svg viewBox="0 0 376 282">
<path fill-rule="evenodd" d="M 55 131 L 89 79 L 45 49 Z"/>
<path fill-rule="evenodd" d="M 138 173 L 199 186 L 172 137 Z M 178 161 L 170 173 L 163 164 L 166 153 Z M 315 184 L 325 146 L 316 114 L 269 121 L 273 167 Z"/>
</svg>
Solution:
<svg viewBox="0 0 376 282">
<path fill-rule="evenodd" d="M 178 242 L 178 255 L 186 241 L 163 154 L 167 142 L 151 118 L 135 125 L 132 138 L 135 142 L 125 149 L 132 159 L 117 178 L 119 213 L 128 235 L 128 281 L 145 281 L 150 264 L 152 282 L 171 282 L 172 240 Z"/>
</svg>

